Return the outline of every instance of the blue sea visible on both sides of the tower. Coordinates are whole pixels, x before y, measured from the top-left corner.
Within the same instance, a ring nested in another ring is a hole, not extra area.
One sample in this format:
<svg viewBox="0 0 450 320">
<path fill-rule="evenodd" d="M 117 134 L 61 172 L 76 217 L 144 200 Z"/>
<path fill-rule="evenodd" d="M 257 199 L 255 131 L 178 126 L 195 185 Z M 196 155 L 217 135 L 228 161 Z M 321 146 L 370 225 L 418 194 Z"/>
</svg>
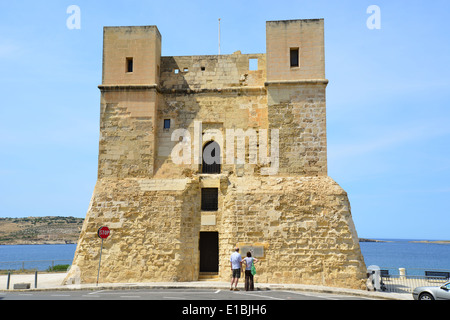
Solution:
<svg viewBox="0 0 450 320">
<path fill-rule="evenodd" d="M 366 266 L 376 265 L 398 274 L 421 275 L 423 270 L 450 270 L 450 244 L 416 243 L 412 239 L 379 239 L 384 242 L 360 242 Z M 76 244 L 0 245 L 0 270 L 36 269 L 71 264 Z"/>
</svg>

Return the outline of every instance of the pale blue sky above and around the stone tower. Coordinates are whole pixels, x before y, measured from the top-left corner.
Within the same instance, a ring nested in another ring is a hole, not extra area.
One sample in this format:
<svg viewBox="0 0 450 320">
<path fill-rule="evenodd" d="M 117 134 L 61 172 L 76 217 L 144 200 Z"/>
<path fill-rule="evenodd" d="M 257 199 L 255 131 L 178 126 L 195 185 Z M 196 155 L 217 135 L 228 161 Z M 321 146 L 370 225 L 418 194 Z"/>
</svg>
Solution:
<svg viewBox="0 0 450 320">
<path fill-rule="evenodd" d="M 221 18 L 222 54 L 264 53 L 265 21 L 324 18 L 328 174 L 359 236 L 450 239 L 448 12 L 447 0 L 2 1 L 0 217 L 86 215 L 103 26 L 157 25 L 163 55 L 206 55 Z"/>
</svg>

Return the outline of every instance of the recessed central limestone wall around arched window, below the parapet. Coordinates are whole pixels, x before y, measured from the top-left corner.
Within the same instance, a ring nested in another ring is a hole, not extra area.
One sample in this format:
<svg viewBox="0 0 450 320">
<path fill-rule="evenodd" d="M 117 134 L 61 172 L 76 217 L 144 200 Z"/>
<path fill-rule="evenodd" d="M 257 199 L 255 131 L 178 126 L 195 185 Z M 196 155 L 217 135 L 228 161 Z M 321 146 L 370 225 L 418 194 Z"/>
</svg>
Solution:
<svg viewBox="0 0 450 320">
<path fill-rule="evenodd" d="M 242 129 L 246 132 L 249 128 L 258 133 L 259 129 L 268 128 L 267 96 L 264 89 L 250 91 L 229 92 L 204 92 L 197 94 L 173 93 L 161 97 L 158 109 L 158 121 L 170 119 L 171 128 L 158 127 L 157 131 L 157 157 L 155 161 L 155 177 L 179 177 L 183 172 L 199 171 L 199 161 L 195 162 L 194 137 L 195 122 L 201 122 L 202 132 L 218 130 L 220 136 L 202 137 L 199 145 L 200 151 L 204 144 L 211 138 L 219 143 L 222 151 L 222 171 L 235 172 L 233 164 L 226 161 L 227 129 Z M 172 141 L 172 133 L 176 129 L 187 129 L 191 137 L 191 161 L 188 164 L 174 165 L 171 159 L 173 147 L 179 141 Z M 234 142 L 237 148 L 237 141 Z M 246 142 L 248 154 L 248 141 Z M 234 153 L 237 155 L 237 151 Z M 245 174 L 254 174 L 258 170 L 256 165 L 251 165 L 246 159 L 242 167 Z"/>
</svg>

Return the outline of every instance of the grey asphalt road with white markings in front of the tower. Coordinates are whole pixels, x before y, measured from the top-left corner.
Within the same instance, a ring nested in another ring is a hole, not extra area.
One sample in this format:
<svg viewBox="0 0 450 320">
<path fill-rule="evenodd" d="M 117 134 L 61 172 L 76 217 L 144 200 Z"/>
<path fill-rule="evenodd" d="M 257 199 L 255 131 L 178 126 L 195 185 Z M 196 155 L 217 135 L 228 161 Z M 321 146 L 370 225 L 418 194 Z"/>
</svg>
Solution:
<svg viewBox="0 0 450 320">
<path fill-rule="evenodd" d="M 218 289 L 136 289 L 0 292 L 0 300 L 370 300 L 364 297 L 327 293 Z"/>
</svg>

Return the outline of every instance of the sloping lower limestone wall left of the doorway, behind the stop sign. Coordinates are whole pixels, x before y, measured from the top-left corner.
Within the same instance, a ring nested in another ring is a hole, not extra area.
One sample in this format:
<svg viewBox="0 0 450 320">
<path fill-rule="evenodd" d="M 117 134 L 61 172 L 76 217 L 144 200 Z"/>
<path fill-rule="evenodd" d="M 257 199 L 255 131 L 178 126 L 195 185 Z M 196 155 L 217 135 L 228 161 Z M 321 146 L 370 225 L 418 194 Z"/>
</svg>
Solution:
<svg viewBox="0 0 450 320">
<path fill-rule="evenodd" d="M 82 283 L 96 281 L 97 230 L 103 225 L 111 234 L 104 240 L 100 281 L 189 281 L 198 275 L 198 242 L 192 236 L 200 226 L 198 189 L 188 187 L 188 180 L 171 182 L 97 182 L 73 261 Z"/>
</svg>

